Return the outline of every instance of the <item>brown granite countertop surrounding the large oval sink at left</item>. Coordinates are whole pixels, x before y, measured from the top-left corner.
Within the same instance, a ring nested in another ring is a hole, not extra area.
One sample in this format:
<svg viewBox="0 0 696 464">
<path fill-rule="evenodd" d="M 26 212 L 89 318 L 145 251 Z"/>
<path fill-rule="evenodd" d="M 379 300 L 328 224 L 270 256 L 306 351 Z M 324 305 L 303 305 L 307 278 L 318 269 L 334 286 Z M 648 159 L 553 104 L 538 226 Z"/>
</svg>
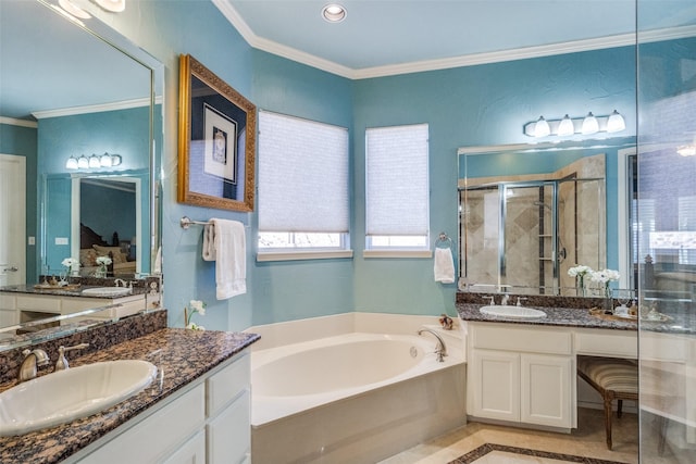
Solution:
<svg viewBox="0 0 696 464">
<path fill-rule="evenodd" d="M 0 462 L 58 463 L 232 358 L 259 338 L 256 334 L 246 333 L 162 328 L 80 358 L 71 353 L 72 367 L 111 360 L 149 361 L 158 366 L 158 377 L 139 394 L 102 413 L 18 437 L 0 437 Z M 13 385 L 14 383 L 2 385 L 0 391 Z"/>
</svg>

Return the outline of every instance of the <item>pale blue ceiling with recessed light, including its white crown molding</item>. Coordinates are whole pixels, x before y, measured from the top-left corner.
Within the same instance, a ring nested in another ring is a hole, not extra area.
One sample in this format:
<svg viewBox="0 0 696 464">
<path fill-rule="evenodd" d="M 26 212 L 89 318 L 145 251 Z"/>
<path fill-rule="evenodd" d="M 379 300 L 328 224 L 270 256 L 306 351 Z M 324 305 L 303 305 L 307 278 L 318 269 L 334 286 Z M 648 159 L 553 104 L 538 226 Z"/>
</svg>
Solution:
<svg viewBox="0 0 696 464">
<path fill-rule="evenodd" d="M 350 78 L 635 42 L 635 0 L 212 1 L 251 46 Z M 330 2 L 346 8 L 343 22 L 322 18 Z M 694 0 L 639 8 L 644 29 L 696 18 Z"/>
</svg>

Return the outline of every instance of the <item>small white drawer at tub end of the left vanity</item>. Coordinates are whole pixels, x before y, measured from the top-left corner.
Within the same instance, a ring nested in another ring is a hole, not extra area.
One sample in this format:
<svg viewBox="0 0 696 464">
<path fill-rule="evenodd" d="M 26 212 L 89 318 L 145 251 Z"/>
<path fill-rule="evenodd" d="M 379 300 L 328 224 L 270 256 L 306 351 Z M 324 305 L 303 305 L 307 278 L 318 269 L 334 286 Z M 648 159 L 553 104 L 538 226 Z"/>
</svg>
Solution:
<svg viewBox="0 0 696 464">
<path fill-rule="evenodd" d="M 246 352 L 231 365 L 206 380 L 207 415 L 213 417 L 250 384 L 250 356 Z"/>
</svg>

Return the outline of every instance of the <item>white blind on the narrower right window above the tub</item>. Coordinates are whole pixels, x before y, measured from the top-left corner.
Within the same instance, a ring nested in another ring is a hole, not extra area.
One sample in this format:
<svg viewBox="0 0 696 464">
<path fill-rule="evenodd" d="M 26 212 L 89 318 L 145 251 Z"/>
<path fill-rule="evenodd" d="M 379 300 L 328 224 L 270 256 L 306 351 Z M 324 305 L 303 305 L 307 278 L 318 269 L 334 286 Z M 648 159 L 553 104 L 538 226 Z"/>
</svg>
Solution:
<svg viewBox="0 0 696 464">
<path fill-rule="evenodd" d="M 427 235 L 427 124 L 369 128 L 366 235 Z"/>
</svg>

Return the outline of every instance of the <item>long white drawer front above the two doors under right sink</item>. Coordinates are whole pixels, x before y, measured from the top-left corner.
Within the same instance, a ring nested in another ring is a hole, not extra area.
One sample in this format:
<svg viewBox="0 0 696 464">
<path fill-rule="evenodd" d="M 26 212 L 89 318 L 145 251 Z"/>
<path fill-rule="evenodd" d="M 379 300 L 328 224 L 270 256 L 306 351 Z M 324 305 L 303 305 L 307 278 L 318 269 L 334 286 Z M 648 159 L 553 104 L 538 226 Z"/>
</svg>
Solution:
<svg viewBox="0 0 696 464">
<path fill-rule="evenodd" d="M 473 348 L 571 354 L 572 335 L 562 328 L 515 328 L 501 324 L 472 325 Z"/>
</svg>

